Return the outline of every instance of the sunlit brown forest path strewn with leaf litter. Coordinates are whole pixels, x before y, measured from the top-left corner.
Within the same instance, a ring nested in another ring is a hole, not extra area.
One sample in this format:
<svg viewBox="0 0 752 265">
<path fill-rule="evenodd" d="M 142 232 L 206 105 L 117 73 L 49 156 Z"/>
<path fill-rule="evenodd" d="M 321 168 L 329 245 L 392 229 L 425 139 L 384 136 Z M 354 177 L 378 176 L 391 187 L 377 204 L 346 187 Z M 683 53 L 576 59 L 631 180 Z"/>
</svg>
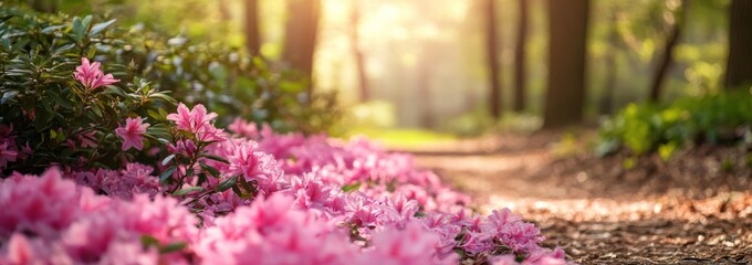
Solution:
<svg viewBox="0 0 752 265">
<path fill-rule="evenodd" d="M 588 155 L 593 139 L 585 129 L 403 151 L 473 195 L 482 212 L 505 206 L 536 223 L 544 245 L 563 247 L 576 263 L 752 264 L 744 150 L 694 147 L 627 169 L 624 156 Z"/>
</svg>

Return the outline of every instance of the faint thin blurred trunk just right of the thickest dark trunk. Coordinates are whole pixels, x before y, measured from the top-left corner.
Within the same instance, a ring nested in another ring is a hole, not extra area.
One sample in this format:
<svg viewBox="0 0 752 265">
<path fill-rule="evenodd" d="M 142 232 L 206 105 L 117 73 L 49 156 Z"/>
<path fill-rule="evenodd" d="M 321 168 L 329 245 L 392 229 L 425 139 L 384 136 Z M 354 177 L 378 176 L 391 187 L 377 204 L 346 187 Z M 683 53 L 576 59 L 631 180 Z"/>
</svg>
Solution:
<svg viewBox="0 0 752 265">
<path fill-rule="evenodd" d="M 614 112 L 614 92 L 616 91 L 616 78 L 618 75 L 616 55 L 618 52 L 619 34 L 616 29 L 616 11 L 612 12 L 612 25 L 608 32 L 608 47 L 606 50 L 606 81 L 603 86 L 600 97 L 600 114 L 612 114 Z"/>
</svg>

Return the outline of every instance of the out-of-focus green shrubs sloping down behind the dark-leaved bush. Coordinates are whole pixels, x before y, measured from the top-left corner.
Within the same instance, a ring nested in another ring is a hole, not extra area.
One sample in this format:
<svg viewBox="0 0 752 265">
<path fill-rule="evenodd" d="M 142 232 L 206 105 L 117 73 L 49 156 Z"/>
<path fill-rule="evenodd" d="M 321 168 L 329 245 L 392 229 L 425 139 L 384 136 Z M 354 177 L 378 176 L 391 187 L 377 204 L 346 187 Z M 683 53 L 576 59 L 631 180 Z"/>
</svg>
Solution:
<svg viewBox="0 0 752 265">
<path fill-rule="evenodd" d="M 2 9 L 0 18 L 14 17 L 7 26 L 28 33 L 15 38 L 35 39 L 43 34 L 59 47 L 62 40 L 58 39 L 79 40 L 80 45 L 67 47 L 69 53 L 96 55 L 96 61 L 118 72 L 113 73 L 116 78 L 132 82 L 140 76 L 157 91 L 170 91 L 180 102 L 203 104 L 224 118 L 218 126 L 242 117 L 268 123 L 276 130 L 318 132 L 327 130 L 340 116 L 335 95 L 311 96 L 309 82 L 300 73 L 272 70 L 261 57 L 220 43 L 168 36 L 138 24 L 125 29 L 107 18 L 94 18 L 103 23 L 83 29 L 72 26 L 76 19 L 66 15 L 40 14 L 7 6 Z M 105 32 L 100 32 L 105 28 Z M 90 30 L 90 35 L 84 36 L 83 30 Z"/>
</svg>

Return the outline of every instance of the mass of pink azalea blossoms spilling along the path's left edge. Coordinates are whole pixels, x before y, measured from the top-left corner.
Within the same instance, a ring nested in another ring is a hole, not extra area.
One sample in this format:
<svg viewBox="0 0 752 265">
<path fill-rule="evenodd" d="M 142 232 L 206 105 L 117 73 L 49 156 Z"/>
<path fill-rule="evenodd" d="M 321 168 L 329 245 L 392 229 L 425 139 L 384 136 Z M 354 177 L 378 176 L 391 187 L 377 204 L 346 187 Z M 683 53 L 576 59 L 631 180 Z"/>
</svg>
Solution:
<svg viewBox="0 0 752 265">
<path fill-rule="evenodd" d="M 139 163 L 15 174 L 0 182 L 0 264 L 566 263 L 561 250 L 539 245 L 544 237 L 533 224 L 506 209 L 472 213 L 467 195 L 407 155 L 242 120 L 229 127 L 232 136 L 211 124 L 216 117 L 182 104 L 168 116 L 198 140 L 180 139 L 168 152 L 201 153 L 196 168 L 181 170 L 217 171 L 206 181 L 189 174 L 184 188 L 209 191 L 238 178 L 251 195 L 165 198 L 171 187 Z M 129 120 L 134 128 L 139 121 Z"/>
</svg>

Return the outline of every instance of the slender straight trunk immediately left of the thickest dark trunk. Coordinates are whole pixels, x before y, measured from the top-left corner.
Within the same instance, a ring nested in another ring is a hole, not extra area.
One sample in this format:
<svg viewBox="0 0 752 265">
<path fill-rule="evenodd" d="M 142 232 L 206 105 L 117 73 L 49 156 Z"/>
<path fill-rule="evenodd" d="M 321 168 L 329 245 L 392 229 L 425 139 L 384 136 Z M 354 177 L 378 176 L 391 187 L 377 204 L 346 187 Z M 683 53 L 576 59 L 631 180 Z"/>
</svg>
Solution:
<svg viewBox="0 0 752 265">
<path fill-rule="evenodd" d="M 518 0 L 520 21 L 518 22 L 516 46 L 514 47 L 514 112 L 525 109 L 525 44 L 528 43 L 528 0 Z"/>
</svg>

